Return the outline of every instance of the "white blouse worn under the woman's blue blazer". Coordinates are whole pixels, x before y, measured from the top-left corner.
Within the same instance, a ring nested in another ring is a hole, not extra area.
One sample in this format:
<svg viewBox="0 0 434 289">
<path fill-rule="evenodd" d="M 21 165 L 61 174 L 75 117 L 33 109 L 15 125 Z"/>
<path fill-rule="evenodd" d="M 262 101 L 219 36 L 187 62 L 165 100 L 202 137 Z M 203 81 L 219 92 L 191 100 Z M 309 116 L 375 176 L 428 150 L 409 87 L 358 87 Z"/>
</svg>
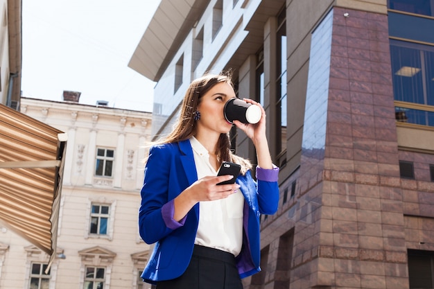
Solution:
<svg viewBox="0 0 434 289">
<path fill-rule="evenodd" d="M 198 179 L 217 175 L 202 143 L 195 137 L 191 137 L 190 143 Z M 225 199 L 199 202 L 199 227 L 194 243 L 238 256 L 243 243 L 243 207 L 244 196 L 239 190 Z"/>
</svg>

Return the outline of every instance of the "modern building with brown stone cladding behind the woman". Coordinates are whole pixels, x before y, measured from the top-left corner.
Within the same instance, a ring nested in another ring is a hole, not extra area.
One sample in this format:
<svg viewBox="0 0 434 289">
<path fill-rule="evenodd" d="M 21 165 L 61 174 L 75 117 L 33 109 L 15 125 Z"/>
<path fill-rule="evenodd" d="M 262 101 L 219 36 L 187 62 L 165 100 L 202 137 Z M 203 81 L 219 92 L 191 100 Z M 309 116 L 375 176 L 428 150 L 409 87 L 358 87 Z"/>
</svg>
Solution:
<svg viewBox="0 0 434 289">
<path fill-rule="evenodd" d="M 153 139 L 208 71 L 267 112 L 281 199 L 245 288 L 433 288 L 433 28 L 431 0 L 161 1 L 129 63 Z"/>
</svg>

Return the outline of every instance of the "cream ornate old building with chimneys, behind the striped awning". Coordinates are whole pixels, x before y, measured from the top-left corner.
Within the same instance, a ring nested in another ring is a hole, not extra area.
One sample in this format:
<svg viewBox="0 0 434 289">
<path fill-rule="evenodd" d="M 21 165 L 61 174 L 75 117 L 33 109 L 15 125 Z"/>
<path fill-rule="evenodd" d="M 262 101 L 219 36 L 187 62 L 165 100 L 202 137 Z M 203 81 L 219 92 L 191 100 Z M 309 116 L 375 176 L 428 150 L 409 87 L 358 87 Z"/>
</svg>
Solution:
<svg viewBox="0 0 434 289">
<path fill-rule="evenodd" d="M 0 226 L 0 288 L 150 287 L 139 278 L 149 246 L 138 210 L 151 114 L 79 98 L 76 91 L 64 91 L 63 101 L 21 98 L 23 114 L 68 134 L 57 253 L 47 274 L 49 254 Z"/>
</svg>

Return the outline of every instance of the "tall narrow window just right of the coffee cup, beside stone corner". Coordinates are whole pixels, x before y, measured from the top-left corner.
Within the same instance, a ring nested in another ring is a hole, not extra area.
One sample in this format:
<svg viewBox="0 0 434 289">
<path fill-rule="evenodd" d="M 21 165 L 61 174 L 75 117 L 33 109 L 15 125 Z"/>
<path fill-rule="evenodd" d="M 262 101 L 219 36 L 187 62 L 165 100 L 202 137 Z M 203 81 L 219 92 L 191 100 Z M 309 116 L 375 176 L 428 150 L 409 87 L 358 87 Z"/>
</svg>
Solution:
<svg viewBox="0 0 434 289">
<path fill-rule="evenodd" d="M 280 155 L 286 149 L 286 10 L 284 9 L 277 17 L 277 153 Z M 280 161 L 282 166 L 284 161 Z"/>
</svg>

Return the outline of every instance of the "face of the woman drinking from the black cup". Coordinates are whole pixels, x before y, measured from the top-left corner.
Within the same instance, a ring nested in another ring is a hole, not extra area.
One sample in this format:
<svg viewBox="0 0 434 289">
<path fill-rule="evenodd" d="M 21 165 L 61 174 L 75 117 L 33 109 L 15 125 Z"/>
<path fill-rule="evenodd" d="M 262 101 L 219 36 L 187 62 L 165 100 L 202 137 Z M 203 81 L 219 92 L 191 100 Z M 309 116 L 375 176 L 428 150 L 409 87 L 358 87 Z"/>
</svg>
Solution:
<svg viewBox="0 0 434 289">
<path fill-rule="evenodd" d="M 225 103 L 234 98 L 235 91 L 227 82 L 220 82 L 200 98 L 198 111 L 200 119 L 197 121 L 198 132 L 208 130 L 209 132 L 218 132 L 218 134 L 227 133 L 232 124 L 226 121 L 223 114 Z"/>
</svg>

